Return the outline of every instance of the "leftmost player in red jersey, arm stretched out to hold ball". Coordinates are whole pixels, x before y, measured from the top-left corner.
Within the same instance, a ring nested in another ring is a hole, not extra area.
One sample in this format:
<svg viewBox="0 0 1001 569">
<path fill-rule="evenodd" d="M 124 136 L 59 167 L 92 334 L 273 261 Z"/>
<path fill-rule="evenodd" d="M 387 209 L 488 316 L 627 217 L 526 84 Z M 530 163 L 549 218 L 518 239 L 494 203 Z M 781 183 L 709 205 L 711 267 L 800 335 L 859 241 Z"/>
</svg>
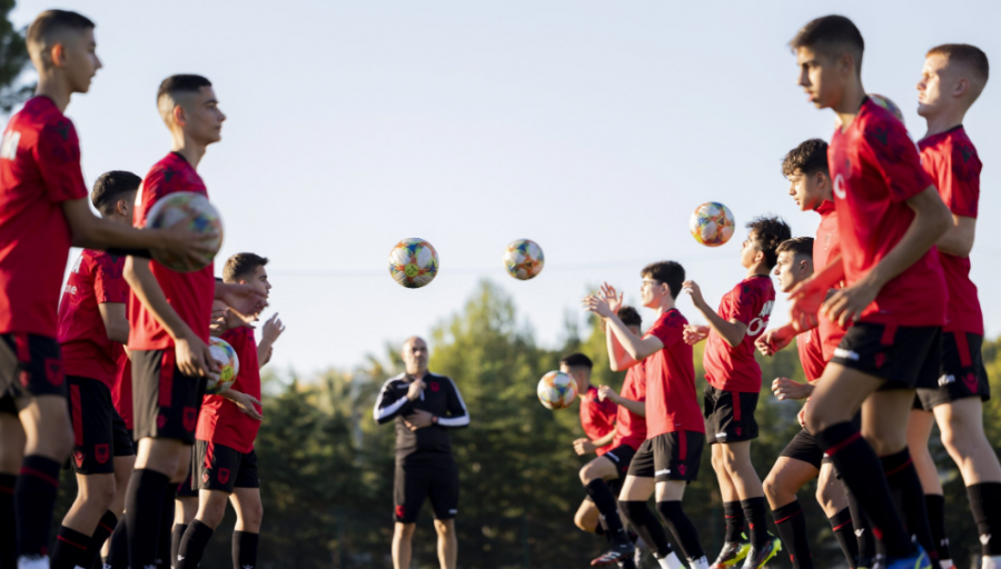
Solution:
<svg viewBox="0 0 1001 569">
<path fill-rule="evenodd" d="M 167 249 L 185 259 L 205 237 L 139 231 L 96 217 L 80 146 L 63 112 L 101 67 L 92 21 L 49 10 L 28 28 L 36 97 L 0 141 L 0 567 L 48 567 L 59 465 L 73 447 L 57 311 L 70 244 Z M 17 379 L 17 381 L 16 381 Z M 16 559 L 20 556 L 20 561 Z"/>
</svg>

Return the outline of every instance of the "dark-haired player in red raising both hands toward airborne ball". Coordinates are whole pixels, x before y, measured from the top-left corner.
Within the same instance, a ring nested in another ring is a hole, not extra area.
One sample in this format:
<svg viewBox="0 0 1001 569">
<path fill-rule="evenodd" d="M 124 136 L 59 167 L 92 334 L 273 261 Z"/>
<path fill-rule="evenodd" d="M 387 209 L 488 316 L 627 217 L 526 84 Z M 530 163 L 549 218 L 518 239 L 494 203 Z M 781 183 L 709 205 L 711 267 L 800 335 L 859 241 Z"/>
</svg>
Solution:
<svg viewBox="0 0 1001 569">
<path fill-rule="evenodd" d="M 622 296 L 614 288 L 605 284 L 601 297 L 588 296 L 583 300 L 586 310 L 605 321 L 612 369 L 646 363 L 646 440 L 630 463 L 620 505 L 626 521 L 653 549 L 657 563 L 663 569 L 677 569 L 683 566 L 646 506 L 656 491 L 657 512 L 688 559 L 690 569 L 707 569 L 698 532 L 681 502 L 685 487 L 698 476 L 705 445 L 705 425 L 695 396 L 692 347 L 683 340 L 687 321 L 674 308 L 685 269 L 674 261 L 662 261 L 644 267 L 641 274 L 643 306 L 657 313 L 656 322 L 643 337 L 633 333 L 616 315 Z"/>
</svg>

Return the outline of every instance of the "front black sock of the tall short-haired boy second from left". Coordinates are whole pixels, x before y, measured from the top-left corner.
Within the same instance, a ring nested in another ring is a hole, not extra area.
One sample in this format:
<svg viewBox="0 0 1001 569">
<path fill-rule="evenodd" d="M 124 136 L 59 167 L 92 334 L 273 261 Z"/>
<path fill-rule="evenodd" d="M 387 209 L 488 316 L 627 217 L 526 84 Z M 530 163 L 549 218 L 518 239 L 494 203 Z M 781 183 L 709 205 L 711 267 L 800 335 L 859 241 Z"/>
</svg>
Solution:
<svg viewBox="0 0 1001 569">
<path fill-rule="evenodd" d="M 157 545 L 160 541 L 160 510 L 169 479 L 156 470 L 132 471 L 126 497 L 128 522 L 129 566 L 146 569 L 157 563 Z"/>
</svg>

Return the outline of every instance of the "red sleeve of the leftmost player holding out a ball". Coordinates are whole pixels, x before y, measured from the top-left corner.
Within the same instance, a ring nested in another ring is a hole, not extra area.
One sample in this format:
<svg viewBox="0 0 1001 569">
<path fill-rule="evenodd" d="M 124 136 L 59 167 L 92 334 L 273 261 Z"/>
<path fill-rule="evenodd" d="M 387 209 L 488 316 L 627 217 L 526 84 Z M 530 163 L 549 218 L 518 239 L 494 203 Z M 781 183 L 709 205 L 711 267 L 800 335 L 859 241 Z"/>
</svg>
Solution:
<svg viewBox="0 0 1001 569">
<path fill-rule="evenodd" d="M 34 152 L 49 201 L 60 203 L 87 197 L 87 183 L 80 169 L 80 143 L 71 121 L 61 119 L 46 124 L 38 134 Z"/>
</svg>

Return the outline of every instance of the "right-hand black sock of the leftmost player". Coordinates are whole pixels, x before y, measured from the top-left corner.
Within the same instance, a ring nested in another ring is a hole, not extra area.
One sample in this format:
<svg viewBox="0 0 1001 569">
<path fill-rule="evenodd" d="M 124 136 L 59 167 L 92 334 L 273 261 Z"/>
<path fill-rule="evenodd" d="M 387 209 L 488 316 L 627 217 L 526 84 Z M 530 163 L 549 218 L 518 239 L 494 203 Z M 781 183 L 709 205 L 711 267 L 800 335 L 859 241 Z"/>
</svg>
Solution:
<svg viewBox="0 0 1001 569">
<path fill-rule="evenodd" d="M 14 488 L 19 555 L 49 555 L 52 508 L 58 493 L 59 462 L 38 455 L 24 457 Z"/>
</svg>

